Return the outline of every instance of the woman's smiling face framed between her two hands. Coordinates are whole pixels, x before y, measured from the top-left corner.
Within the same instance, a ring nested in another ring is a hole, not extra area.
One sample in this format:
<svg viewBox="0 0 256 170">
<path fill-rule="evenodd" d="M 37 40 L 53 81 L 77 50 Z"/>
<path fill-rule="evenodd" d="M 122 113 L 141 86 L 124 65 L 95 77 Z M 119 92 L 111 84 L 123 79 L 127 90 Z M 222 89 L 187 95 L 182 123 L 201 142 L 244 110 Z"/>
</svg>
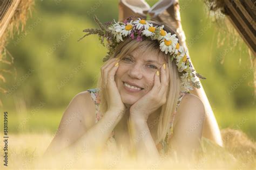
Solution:
<svg viewBox="0 0 256 170">
<path fill-rule="evenodd" d="M 119 61 L 115 75 L 117 88 L 123 103 L 132 105 L 147 94 L 154 85 L 154 75 L 165 63 L 156 50 L 137 48 Z"/>
</svg>

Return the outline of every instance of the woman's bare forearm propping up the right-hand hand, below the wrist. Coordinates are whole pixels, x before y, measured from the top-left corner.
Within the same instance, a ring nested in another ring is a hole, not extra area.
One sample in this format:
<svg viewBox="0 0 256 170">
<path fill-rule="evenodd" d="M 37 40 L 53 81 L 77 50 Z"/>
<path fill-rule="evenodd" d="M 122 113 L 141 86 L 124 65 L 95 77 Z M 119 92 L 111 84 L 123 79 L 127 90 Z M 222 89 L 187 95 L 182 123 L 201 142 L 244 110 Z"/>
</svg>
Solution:
<svg viewBox="0 0 256 170">
<path fill-rule="evenodd" d="M 151 136 L 149 126 L 143 119 L 130 116 L 130 131 L 132 144 L 137 151 L 138 157 L 156 160 L 159 158 L 159 153 Z"/>
</svg>

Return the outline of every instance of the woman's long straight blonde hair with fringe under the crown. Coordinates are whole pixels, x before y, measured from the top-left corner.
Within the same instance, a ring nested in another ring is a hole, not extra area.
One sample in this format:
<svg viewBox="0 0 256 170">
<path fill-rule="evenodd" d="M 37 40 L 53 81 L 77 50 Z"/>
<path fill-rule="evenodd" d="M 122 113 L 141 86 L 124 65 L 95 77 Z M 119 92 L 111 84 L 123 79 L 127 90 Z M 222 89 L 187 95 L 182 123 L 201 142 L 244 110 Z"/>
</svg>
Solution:
<svg viewBox="0 0 256 170">
<path fill-rule="evenodd" d="M 157 25 L 157 26 L 163 25 L 156 21 L 150 21 L 150 23 L 153 23 L 154 25 Z M 166 25 L 164 26 L 164 30 L 166 32 L 171 32 L 172 34 L 176 33 Z M 178 34 L 177 34 L 177 37 L 179 38 Z M 156 143 L 158 143 L 159 141 L 164 140 L 166 133 L 169 130 L 169 123 L 171 121 L 172 114 L 176 109 L 177 100 L 180 92 L 180 78 L 178 76 L 178 68 L 176 64 L 171 61 L 170 54 L 165 54 L 164 52 L 160 51 L 159 42 L 157 40 L 153 41 L 153 40 L 145 39 L 143 41 L 137 41 L 136 39 L 126 38 L 124 39 L 124 41 L 118 44 L 113 55 L 110 56 L 110 59 L 118 58 L 118 57 L 122 59 L 124 56 L 126 56 L 127 54 L 130 54 L 136 49 L 156 50 L 158 52 L 157 53 L 158 57 L 159 56 L 164 57 L 165 61 L 167 62 L 167 65 L 169 66 L 170 82 L 169 82 L 169 87 L 167 88 L 167 100 L 166 100 L 166 103 L 161 106 L 161 112 L 160 112 L 159 118 L 155 120 L 152 124 L 153 126 L 157 124 L 157 122 L 159 122 L 158 130 L 157 130 L 157 141 L 156 141 Z M 143 52 L 143 51 L 140 51 L 140 52 Z M 97 88 L 100 89 L 99 110 L 100 112 L 102 112 L 102 114 L 104 114 L 107 111 L 107 103 L 106 103 L 106 96 L 105 96 L 104 88 L 102 84 L 102 78 L 100 74 L 99 74 L 99 79 L 97 83 Z"/>
</svg>

